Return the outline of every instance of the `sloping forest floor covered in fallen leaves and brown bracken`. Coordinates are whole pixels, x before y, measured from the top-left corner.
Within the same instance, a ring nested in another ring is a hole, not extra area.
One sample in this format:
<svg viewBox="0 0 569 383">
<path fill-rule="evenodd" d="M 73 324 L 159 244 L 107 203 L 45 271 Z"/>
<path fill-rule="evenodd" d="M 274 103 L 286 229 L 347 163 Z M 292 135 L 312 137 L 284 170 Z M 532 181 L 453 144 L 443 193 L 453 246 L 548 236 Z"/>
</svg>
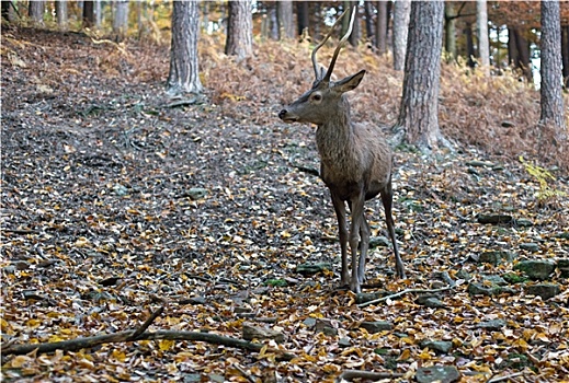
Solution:
<svg viewBox="0 0 569 383">
<path fill-rule="evenodd" d="M 408 278 L 386 246 L 366 269 L 374 297 L 432 291 L 364 306 L 339 289 L 335 217 L 307 171 L 319 167 L 314 128 L 276 118 L 311 82 L 309 48 L 255 49 L 235 62 L 204 37 L 206 97 L 173 107 L 168 47 L 2 30 L 2 381 L 409 381 L 434 365 L 463 382 L 566 379 L 569 178 L 533 144 L 536 92 L 445 66 L 441 126 L 456 150 L 396 152 Z M 346 49 L 338 63 L 339 76 L 369 70 L 354 116 L 384 126 L 401 89 L 387 62 Z M 380 201 L 367 217 L 382 242 Z M 557 268 L 532 280 L 524 260 Z M 305 263 L 332 267 L 298 274 Z M 11 353 L 140 328 L 159 307 L 148 332 L 275 333 L 252 336 L 260 351 L 163 338 Z"/>
</svg>

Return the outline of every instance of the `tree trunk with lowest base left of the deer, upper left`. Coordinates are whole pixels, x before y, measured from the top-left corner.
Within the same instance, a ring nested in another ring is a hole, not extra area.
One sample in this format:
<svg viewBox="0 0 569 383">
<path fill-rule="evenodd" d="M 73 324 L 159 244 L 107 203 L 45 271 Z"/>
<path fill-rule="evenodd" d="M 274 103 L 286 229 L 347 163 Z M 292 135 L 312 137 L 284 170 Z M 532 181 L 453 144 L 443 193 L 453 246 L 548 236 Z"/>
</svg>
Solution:
<svg viewBox="0 0 569 383">
<path fill-rule="evenodd" d="M 200 38 L 200 12 L 197 1 L 174 1 L 172 11 L 172 46 L 167 92 L 200 94 L 197 40 Z"/>
</svg>

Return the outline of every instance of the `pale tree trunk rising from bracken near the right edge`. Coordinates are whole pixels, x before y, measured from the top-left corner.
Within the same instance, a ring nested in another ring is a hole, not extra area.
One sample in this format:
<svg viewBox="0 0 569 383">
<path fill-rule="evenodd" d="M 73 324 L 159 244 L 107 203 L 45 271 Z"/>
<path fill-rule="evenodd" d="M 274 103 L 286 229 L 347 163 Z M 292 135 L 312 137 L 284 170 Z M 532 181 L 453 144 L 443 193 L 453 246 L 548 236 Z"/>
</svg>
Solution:
<svg viewBox="0 0 569 383">
<path fill-rule="evenodd" d="M 561 21 L 559 1 L 542 1 L 542 115 L 539 124 L 555 129 L 556 139 L 567 139 L 561 93 Z"/>
</svg>

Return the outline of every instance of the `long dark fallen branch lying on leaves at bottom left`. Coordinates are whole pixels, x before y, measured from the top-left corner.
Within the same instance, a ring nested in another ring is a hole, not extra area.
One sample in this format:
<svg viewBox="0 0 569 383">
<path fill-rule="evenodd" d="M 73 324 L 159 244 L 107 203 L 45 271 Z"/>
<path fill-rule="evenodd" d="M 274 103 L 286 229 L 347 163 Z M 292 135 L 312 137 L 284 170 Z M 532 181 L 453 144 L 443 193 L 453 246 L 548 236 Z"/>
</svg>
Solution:
<svg viewBox="0 0 569 383">
<path fill-rule="evenodd" d="M 2 348 L 2 355 L 25 355 L 37 350 L 37 353 L 54 352 L 55 350 L 64 351 L 78 351 L 83 348 L 91 348 L 94 346 L 111 344 L 111 343 L 123 343 L 132 341 L 130 338 L 135 334 L 134 330 L 120 332 L 114 334 L 103 334 L 84 338 L 76 338 L 55 343 L 45 344 L 25 344 L 25 345 L 12 345 L 10 347 Z M 264 345 L 257 344 L 249 340 L 231 338 L 212 333 L 200 333 L 200 332 L 177 332 L 177 330 L 159 330 L 155 333 L 145 332 L 140 334 L 136 340 L 191 340 L 191 341 L 205 341 L 212 345 L 223 345 L 228 347 L 241 348 L 249 351 L 260 351 Z M 293 360 L 296 356 L 294 353 L 283 352 L 278 349 L 269 349 L 271 352 L 278 353 L 277 359 L 281 360 Z"/>
</svg>

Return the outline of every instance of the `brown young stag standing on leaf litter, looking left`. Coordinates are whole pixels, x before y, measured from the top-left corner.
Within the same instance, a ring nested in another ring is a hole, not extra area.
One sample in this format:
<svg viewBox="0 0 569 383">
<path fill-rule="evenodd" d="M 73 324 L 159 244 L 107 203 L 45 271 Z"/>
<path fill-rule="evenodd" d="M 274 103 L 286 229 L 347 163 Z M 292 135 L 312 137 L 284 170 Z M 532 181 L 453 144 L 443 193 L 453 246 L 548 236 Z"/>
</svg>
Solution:
<svg viewBox="0 0 569 383">
<path fill-rule="evenodd" d="M 392 218 L 392 162 L 394 154 L 379 129 L 352 121 L 346 92 L 360 85 L 365 70 L 339 81 L 332 81 L 338 55 L 352 33 L 355 8 L 349 28 L 340 39 L 328 69 L 319 67 L 317 51 L 326 44 L 335 26 L 345 15 L 343 12 L 326 37 L 311 53 L 315 81 L 312 88 L 278 113 L 284 123 L 309 123 L 317 126 L 316 146 L 320 156 L 320 177 L 330 190 L 338 218 L 342 274 L 340 283 L 355 293 L 362 292 L 365 280 L 365 263 L 369 248 L 369 223 L 365 218 L 364 204 L 380 195 L 385 221 L 392 244 L 397 277 L 406 278 L 405 266 L 399 256 Z M 346 205 L 351 212 L 348 232 Z M 348 245 L 352 255 L 351 277 L 348 265 Z M 360 257 L 357 251 L 360 248 Z"/>
</svg>

